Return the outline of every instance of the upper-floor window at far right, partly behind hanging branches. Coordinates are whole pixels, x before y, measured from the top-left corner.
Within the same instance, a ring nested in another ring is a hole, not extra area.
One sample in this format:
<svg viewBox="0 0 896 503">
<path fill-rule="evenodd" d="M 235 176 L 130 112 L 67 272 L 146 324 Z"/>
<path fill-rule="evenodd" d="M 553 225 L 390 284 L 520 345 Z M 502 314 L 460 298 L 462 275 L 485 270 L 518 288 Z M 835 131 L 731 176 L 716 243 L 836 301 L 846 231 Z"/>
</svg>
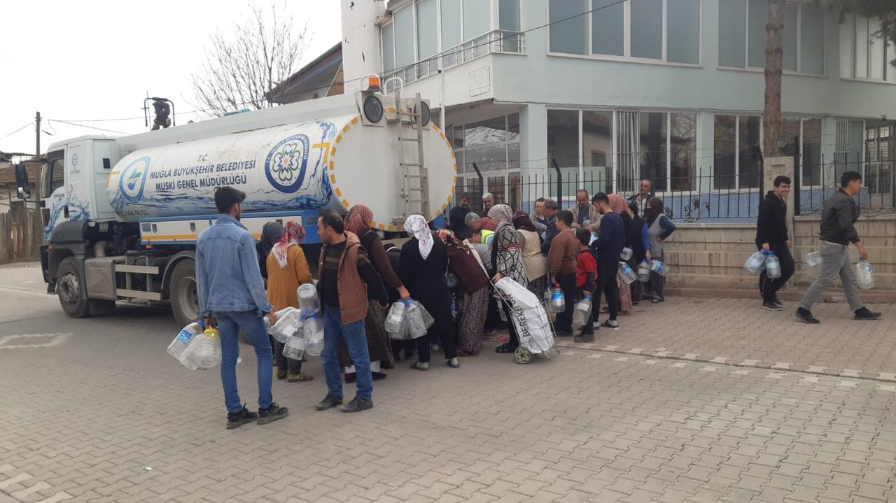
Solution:
<svg viewBox="0 0 896 503">
<path fill-rule="evenodd" d="M 840 76 L 896 82 L 896 46 L 881 20 L 846 14 L 840 22 Z"/>
</svg>

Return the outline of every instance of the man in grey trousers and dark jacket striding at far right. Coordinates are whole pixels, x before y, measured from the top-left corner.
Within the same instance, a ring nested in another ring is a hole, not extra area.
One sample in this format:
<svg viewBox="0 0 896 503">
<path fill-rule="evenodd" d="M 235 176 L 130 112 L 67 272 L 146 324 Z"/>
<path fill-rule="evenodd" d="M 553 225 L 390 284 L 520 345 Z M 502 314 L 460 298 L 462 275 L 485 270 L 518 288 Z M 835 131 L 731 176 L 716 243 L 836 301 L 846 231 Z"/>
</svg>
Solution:
<svg viewBox="0 0 896 503">
<path fill-rule="evenodd" d="M 856 313 L 856 320 L 877 320 L 881 317 L 879 312 L 868 311 L 858 297 L 856 271 L 849 261 L 849 243 L 856 245 L 859 259 L 868 260 L 868 252 L 854 225 L 858 219 L 858 205 L 852 199 L 862 188 L 862 175 L 847 171 L 840 179 L 840 185 L 840 190 L 824 201 L 822 231 L 819 234 L 822 241 L 819 253 L 822 256 L 821 270 L 799 303 L 797 320 L 803 323 L 821 323 L 810 310 L 838 275 L 843 283 L 843 293 L 849 301 L 849 309 Z"/>
</svg>

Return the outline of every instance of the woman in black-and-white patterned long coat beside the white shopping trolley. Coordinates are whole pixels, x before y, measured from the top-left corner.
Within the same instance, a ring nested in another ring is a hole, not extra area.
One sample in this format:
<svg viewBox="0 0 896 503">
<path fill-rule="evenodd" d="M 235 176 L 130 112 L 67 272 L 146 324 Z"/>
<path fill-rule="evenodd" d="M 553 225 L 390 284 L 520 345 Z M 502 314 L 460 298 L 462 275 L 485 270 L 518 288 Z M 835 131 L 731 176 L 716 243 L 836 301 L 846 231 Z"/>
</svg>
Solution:
<svg viewBox="0 0 896 503">
<path fill-rule="evenodd" d="M 488 210 L 488 217 L 495 220 L 495 240 L 492 242 L 492 266 L 495 268 L 495 277 L 492 281 L 498 281 L 502 277 L 510 277 L 521 286 L 529 287 L 529 277 L 526 275 L 526 266 L 522 262 L 522 243 L 520 234 L 513 228 L 513 209 L 506 204 L 498 204 Z M 499 297 L 495 293 L 496 297 Z M 513 317 L 510 308 L 502 303 L 504 314 L 510 322 L 507 324 L 510 331 L 508 341 L 499 345 L 497 353 L 513 353 L 520 345 L 516 328 L 513 327 Z"/>
</svg>

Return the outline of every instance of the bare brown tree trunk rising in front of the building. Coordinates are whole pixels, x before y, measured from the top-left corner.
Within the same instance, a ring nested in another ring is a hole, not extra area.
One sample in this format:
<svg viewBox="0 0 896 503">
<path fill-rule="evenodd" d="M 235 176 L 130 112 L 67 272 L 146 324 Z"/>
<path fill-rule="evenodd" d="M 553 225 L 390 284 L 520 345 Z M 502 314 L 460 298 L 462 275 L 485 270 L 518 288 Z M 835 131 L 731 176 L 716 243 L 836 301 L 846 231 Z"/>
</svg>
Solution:
<svg viewBox="0 0 896 503">
<path fill-rule="evenodd" d="M 765 156 L 778 157 L 781 127 L 781 68 L 784 58 L 784 0 L 769 0 L 769 19 L 765 25 L 765 131 L 762 147 Z"/>
</svg>

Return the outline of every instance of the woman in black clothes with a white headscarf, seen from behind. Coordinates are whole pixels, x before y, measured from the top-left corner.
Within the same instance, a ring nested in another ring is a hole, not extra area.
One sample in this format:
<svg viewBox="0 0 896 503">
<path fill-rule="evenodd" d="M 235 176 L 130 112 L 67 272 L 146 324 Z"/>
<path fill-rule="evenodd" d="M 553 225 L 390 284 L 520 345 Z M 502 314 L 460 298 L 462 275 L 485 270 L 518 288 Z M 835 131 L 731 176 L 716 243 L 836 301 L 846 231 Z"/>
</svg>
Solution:
<svg viewBox="0 0 896 503">
<path fill-rule="evenodd" d="M 418 300 L 435 319 L 428 337 L 417 338 L 418 362 L 410 367 L 418 371 L 429 370 L 430 341 L 441 341 L 448 365 L 458 368 L 457 344 L 452 340 L 448 326 L 451 323 L 451 297 L 445 272 L 448 270 L 448 253 L 441 239 L 429 230 L 426 218 L 411 215 L 404 222 L 404 230 L 412 236 L 401 247 L 399 276 L 410 296 Z"/>
</svg>

